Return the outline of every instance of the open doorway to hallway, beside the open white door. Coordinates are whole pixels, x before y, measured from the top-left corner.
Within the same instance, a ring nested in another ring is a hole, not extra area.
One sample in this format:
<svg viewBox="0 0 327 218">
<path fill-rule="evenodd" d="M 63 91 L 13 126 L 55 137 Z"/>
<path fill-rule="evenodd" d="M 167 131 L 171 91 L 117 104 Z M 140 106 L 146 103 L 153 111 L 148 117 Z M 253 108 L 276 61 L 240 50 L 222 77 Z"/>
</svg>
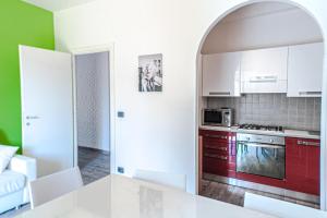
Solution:
<svg viewBox="0 0 327 218">
<path fill-rule="evenodd" d="M 84 184 L 110 174 L 109 51 L 74 56 L 76 164 Z"/>
</svg>

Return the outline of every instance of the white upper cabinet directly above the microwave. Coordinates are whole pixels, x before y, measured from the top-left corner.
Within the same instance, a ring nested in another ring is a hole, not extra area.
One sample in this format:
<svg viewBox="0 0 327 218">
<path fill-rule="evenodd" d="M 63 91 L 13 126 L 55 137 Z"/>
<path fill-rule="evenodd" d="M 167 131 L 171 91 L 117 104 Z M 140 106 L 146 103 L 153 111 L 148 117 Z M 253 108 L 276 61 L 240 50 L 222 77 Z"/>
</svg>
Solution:
<svg viewBox="0 0 327 218">
<path fill-rule="evenodd" d="M 240 52 L 203 56 L 203 96 L 240 96 Z"/>
</svg>

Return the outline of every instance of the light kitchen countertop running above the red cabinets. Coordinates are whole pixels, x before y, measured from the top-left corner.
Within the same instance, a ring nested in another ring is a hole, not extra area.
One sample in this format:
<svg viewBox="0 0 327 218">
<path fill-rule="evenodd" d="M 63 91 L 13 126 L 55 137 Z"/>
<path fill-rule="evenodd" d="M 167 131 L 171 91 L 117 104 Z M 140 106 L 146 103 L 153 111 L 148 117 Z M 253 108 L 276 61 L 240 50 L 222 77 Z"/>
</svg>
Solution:
<svg viewBox="0 0 327 218">
<path fill-rule="evenodd" d="M 250 133 L 250 134 L 261 134 L 261 135 L 276 135 L 283 137 L 302 137 L 308 140 L 320 140 L 320 135 L 313 133 L 311 131 L 302 130 L 288 130 L 283 132 L 274 132 L 274 131 L 261 131 L 261 130 L 240 130 L 239 126 L 211 126 L 211 125 L 201 125 L 202 130 L 214 130 L 214 131 L 225 131 L 225 132 L 234 132 L 234 133 Z"/>
</svg>

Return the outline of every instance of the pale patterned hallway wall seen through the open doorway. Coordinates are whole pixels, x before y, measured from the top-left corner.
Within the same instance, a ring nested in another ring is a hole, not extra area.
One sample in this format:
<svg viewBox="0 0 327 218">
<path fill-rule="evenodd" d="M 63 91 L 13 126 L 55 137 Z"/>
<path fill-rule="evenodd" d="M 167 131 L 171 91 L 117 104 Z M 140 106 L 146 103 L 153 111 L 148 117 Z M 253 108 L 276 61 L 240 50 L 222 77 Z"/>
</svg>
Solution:
<svg viewBox="0 0 327 218">
<path fill-rule="evenodd" d="M 77 144 L 108 150 L 109 75 L 108 52 L 76 56 Z"/>
</svg>

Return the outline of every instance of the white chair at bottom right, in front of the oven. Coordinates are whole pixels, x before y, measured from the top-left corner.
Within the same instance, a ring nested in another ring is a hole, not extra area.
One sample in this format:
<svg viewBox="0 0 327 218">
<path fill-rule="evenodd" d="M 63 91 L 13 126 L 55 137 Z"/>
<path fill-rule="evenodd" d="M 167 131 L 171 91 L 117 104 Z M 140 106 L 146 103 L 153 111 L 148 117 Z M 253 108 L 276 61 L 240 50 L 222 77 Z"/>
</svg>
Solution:
<svg viewBox="0 0 327 218">
<path fill-rule="evenodd" d="M 245 193 L 244 207 L 281 218 L 326 218 L 327 213 L 289 202 Z"/>
</svg>

